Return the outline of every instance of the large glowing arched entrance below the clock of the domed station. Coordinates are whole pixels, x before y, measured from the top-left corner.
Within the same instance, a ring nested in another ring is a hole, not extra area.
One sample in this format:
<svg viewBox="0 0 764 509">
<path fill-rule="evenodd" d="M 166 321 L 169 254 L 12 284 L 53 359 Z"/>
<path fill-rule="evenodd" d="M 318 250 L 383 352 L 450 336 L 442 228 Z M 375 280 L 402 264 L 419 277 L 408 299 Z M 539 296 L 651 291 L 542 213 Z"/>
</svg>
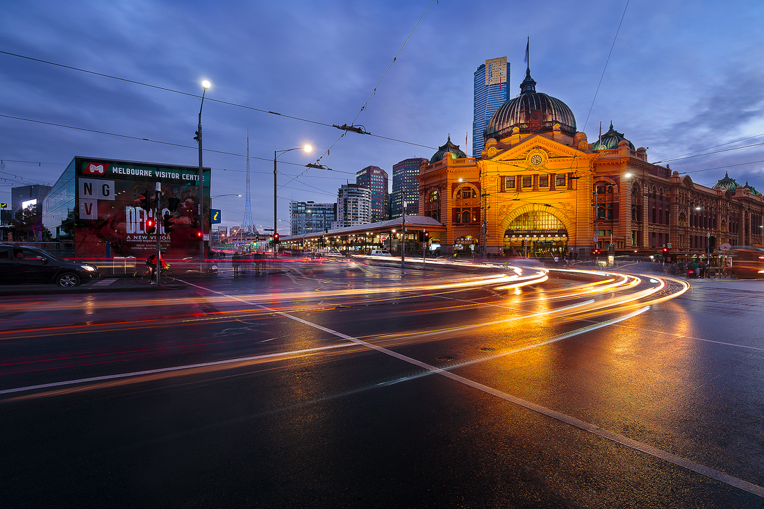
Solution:
<svg viewBox="0 0 764 509">
<path fill-rule="evenodd" d="M 524 212 L 504 232 L 504 254 L 533 258 L 563 258 L 568 253 L 568 230 L 556 216 L 543 210 Z"/>
</svg>

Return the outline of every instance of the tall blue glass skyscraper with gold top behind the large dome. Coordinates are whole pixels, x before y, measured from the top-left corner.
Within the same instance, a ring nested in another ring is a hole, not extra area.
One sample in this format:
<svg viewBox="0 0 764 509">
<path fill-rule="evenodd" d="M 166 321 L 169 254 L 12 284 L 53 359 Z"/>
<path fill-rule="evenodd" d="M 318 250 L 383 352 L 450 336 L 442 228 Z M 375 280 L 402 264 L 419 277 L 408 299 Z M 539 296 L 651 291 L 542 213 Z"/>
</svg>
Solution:
<svg viewBox="0 0 764 509">
<path fill-rule="evenodd" d="M 485 140 L 483 131 L 500 105 L 509 99 L 507 57 L 492 58 L 474 73 L 474 112 L 472 119 L 472 157 L 480 157 Z"/>
</svg>

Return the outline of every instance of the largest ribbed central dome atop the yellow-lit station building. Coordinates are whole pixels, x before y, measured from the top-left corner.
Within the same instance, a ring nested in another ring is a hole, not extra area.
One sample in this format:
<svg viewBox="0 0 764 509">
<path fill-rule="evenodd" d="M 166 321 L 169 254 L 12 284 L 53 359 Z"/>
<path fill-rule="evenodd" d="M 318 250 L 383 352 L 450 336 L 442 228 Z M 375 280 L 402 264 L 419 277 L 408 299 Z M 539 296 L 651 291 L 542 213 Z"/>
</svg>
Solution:
<svg viewBox="0 0 764 509">
<path fill-rule="evenodd" d="M 526 70 L 526 77 L 520 84 L 520 95 L 510 99 L 496 110 L 483 132 L 485 139 L 504 138 L 512 134 L 513 128 L 521 133 L 552 132 L 555 125 L 565 135 L 576 133 L 575 117 L 565 102 L 536 92 L 536 81 Z"/>
</svg>

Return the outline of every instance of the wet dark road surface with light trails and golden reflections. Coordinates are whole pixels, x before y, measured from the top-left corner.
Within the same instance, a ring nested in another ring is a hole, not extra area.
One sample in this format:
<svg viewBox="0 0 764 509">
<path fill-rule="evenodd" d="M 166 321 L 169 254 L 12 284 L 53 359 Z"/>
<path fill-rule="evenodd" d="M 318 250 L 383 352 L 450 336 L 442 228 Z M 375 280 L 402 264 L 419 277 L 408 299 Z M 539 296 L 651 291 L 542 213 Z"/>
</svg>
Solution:
<svg viewBox="0 0 764 509">
<path fill-rule="evenodd" d="M 762 283 L 518 272 L 0 297 L 3 505 L 764 507 Z"/>
</svg>

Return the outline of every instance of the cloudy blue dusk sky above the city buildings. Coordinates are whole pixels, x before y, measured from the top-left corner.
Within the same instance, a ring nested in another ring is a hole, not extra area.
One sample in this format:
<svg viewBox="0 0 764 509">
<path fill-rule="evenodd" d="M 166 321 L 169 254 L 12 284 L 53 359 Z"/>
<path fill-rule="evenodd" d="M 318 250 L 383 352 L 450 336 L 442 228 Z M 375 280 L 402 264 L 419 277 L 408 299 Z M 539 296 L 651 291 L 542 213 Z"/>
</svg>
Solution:
<svg viewBox="0 0 764 509">
<path fill-rule="evenodd" d="M 0 201 L 52 185 L 74 156 L 196 166 L 208 79 L 212 196 L 245 194 L 249 131 L 258 229 L 273 224 L 274 151 L 314 148 L 278 159 L 288 233 L 290 199 L 334 202 L 361 168 L 392 185 L 393 164 L 431 157 L 448 135 L 469 154 L 473 73 L 506 56 L 515 96 L 527 37 L 536 89 L 570 106 L 589 141 L 612 121 L 650 162 L 764 191 L 762 27 L 760 0 L 2 2 Z M 343 124 L 374 136 L 341 138 Z M 317 160 L 330 170 L 304 167 Z M 238 225 L 244 197 L 212 208 Z"/>
</svg>

